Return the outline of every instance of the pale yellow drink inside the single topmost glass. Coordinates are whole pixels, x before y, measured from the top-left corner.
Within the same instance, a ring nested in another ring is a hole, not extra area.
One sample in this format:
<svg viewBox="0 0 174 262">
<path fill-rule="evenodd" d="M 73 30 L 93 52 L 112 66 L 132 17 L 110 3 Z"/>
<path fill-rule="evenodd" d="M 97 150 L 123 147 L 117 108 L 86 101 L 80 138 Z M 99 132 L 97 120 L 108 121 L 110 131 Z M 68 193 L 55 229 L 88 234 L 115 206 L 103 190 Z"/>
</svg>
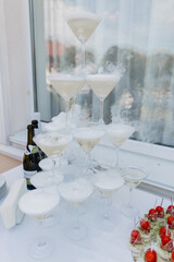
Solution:
<svg viewBox="0 0 174 262">
<path fill-rule="evenodd" d="M 77 15 L 76 17 L 67 17 L 66 22 L 79 41 L 87 41 L 100 20 L 95 16 L 90 17 L 90 15 L 86 17 Z"/>
</svg>

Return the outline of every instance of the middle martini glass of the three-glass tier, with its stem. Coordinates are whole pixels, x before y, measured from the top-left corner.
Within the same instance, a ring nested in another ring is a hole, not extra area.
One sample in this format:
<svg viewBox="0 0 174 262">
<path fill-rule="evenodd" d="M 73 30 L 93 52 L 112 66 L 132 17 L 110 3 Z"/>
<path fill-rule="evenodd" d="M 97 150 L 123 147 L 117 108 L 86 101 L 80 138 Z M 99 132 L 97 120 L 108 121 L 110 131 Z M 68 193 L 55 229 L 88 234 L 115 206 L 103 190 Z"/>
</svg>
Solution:
<svg viewBox="0 0 174 262">
<path fill-rule="evenodd" d="M 86 153 L 86 158 L 87 158 L 86 175 L 90 174 L 90 167 L 91 167 L 90 152 L 100 142 L 103 135 L 104 135 L 104 131 L 94 129 L 94 128 L 78 128 L 73 133 L 74 140 Z"/>
</svg>

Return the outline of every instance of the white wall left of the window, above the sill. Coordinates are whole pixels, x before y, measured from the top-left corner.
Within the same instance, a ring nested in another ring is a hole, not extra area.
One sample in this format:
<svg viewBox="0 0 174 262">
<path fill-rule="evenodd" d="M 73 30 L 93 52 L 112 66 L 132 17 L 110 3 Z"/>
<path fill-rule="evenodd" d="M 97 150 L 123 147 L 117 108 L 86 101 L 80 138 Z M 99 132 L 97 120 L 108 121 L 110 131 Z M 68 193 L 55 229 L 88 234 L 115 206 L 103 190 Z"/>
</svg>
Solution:
<svg viewBox="0 0 174 262">
<path fill-rule="evenodd" d="M 0 0 L 0 143 L 5 143 L 26 128 L 33 111 L 28 1 Z"/>
</svg>

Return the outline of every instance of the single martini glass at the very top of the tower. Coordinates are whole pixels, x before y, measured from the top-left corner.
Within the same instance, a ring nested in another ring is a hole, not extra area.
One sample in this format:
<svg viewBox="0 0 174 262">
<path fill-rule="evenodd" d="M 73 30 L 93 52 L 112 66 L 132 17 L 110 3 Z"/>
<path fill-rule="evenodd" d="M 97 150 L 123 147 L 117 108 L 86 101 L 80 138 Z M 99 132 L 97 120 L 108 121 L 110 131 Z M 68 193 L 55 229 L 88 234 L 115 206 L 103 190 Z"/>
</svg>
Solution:
<svg viewBox="0 0 174 262">
<path fill-rule="evenodd" d="M 82 45 L 82 72 L 85 73 L 85 44 L 101 19 L 91 12 L 75 12 L 66 15 L 66 23 Z"/>
</svg>

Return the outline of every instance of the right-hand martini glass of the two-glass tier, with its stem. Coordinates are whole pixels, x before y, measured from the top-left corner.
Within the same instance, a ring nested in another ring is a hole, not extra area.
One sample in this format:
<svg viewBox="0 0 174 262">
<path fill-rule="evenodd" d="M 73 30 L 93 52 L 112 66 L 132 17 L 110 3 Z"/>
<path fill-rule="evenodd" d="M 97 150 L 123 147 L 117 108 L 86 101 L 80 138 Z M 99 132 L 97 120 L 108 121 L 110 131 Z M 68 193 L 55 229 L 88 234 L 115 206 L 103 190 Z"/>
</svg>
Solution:
<svg viewBox="0 0 174 262">
<path fill-rule="evenodd" d="M 86 76 L 86 82 L 100 99 L 100 118 L 99 123 L 104 124 L 103 120 L 103 102 L 111 93 L 121 79 L 120 74 L 90 74 Z"/>
</svg>

